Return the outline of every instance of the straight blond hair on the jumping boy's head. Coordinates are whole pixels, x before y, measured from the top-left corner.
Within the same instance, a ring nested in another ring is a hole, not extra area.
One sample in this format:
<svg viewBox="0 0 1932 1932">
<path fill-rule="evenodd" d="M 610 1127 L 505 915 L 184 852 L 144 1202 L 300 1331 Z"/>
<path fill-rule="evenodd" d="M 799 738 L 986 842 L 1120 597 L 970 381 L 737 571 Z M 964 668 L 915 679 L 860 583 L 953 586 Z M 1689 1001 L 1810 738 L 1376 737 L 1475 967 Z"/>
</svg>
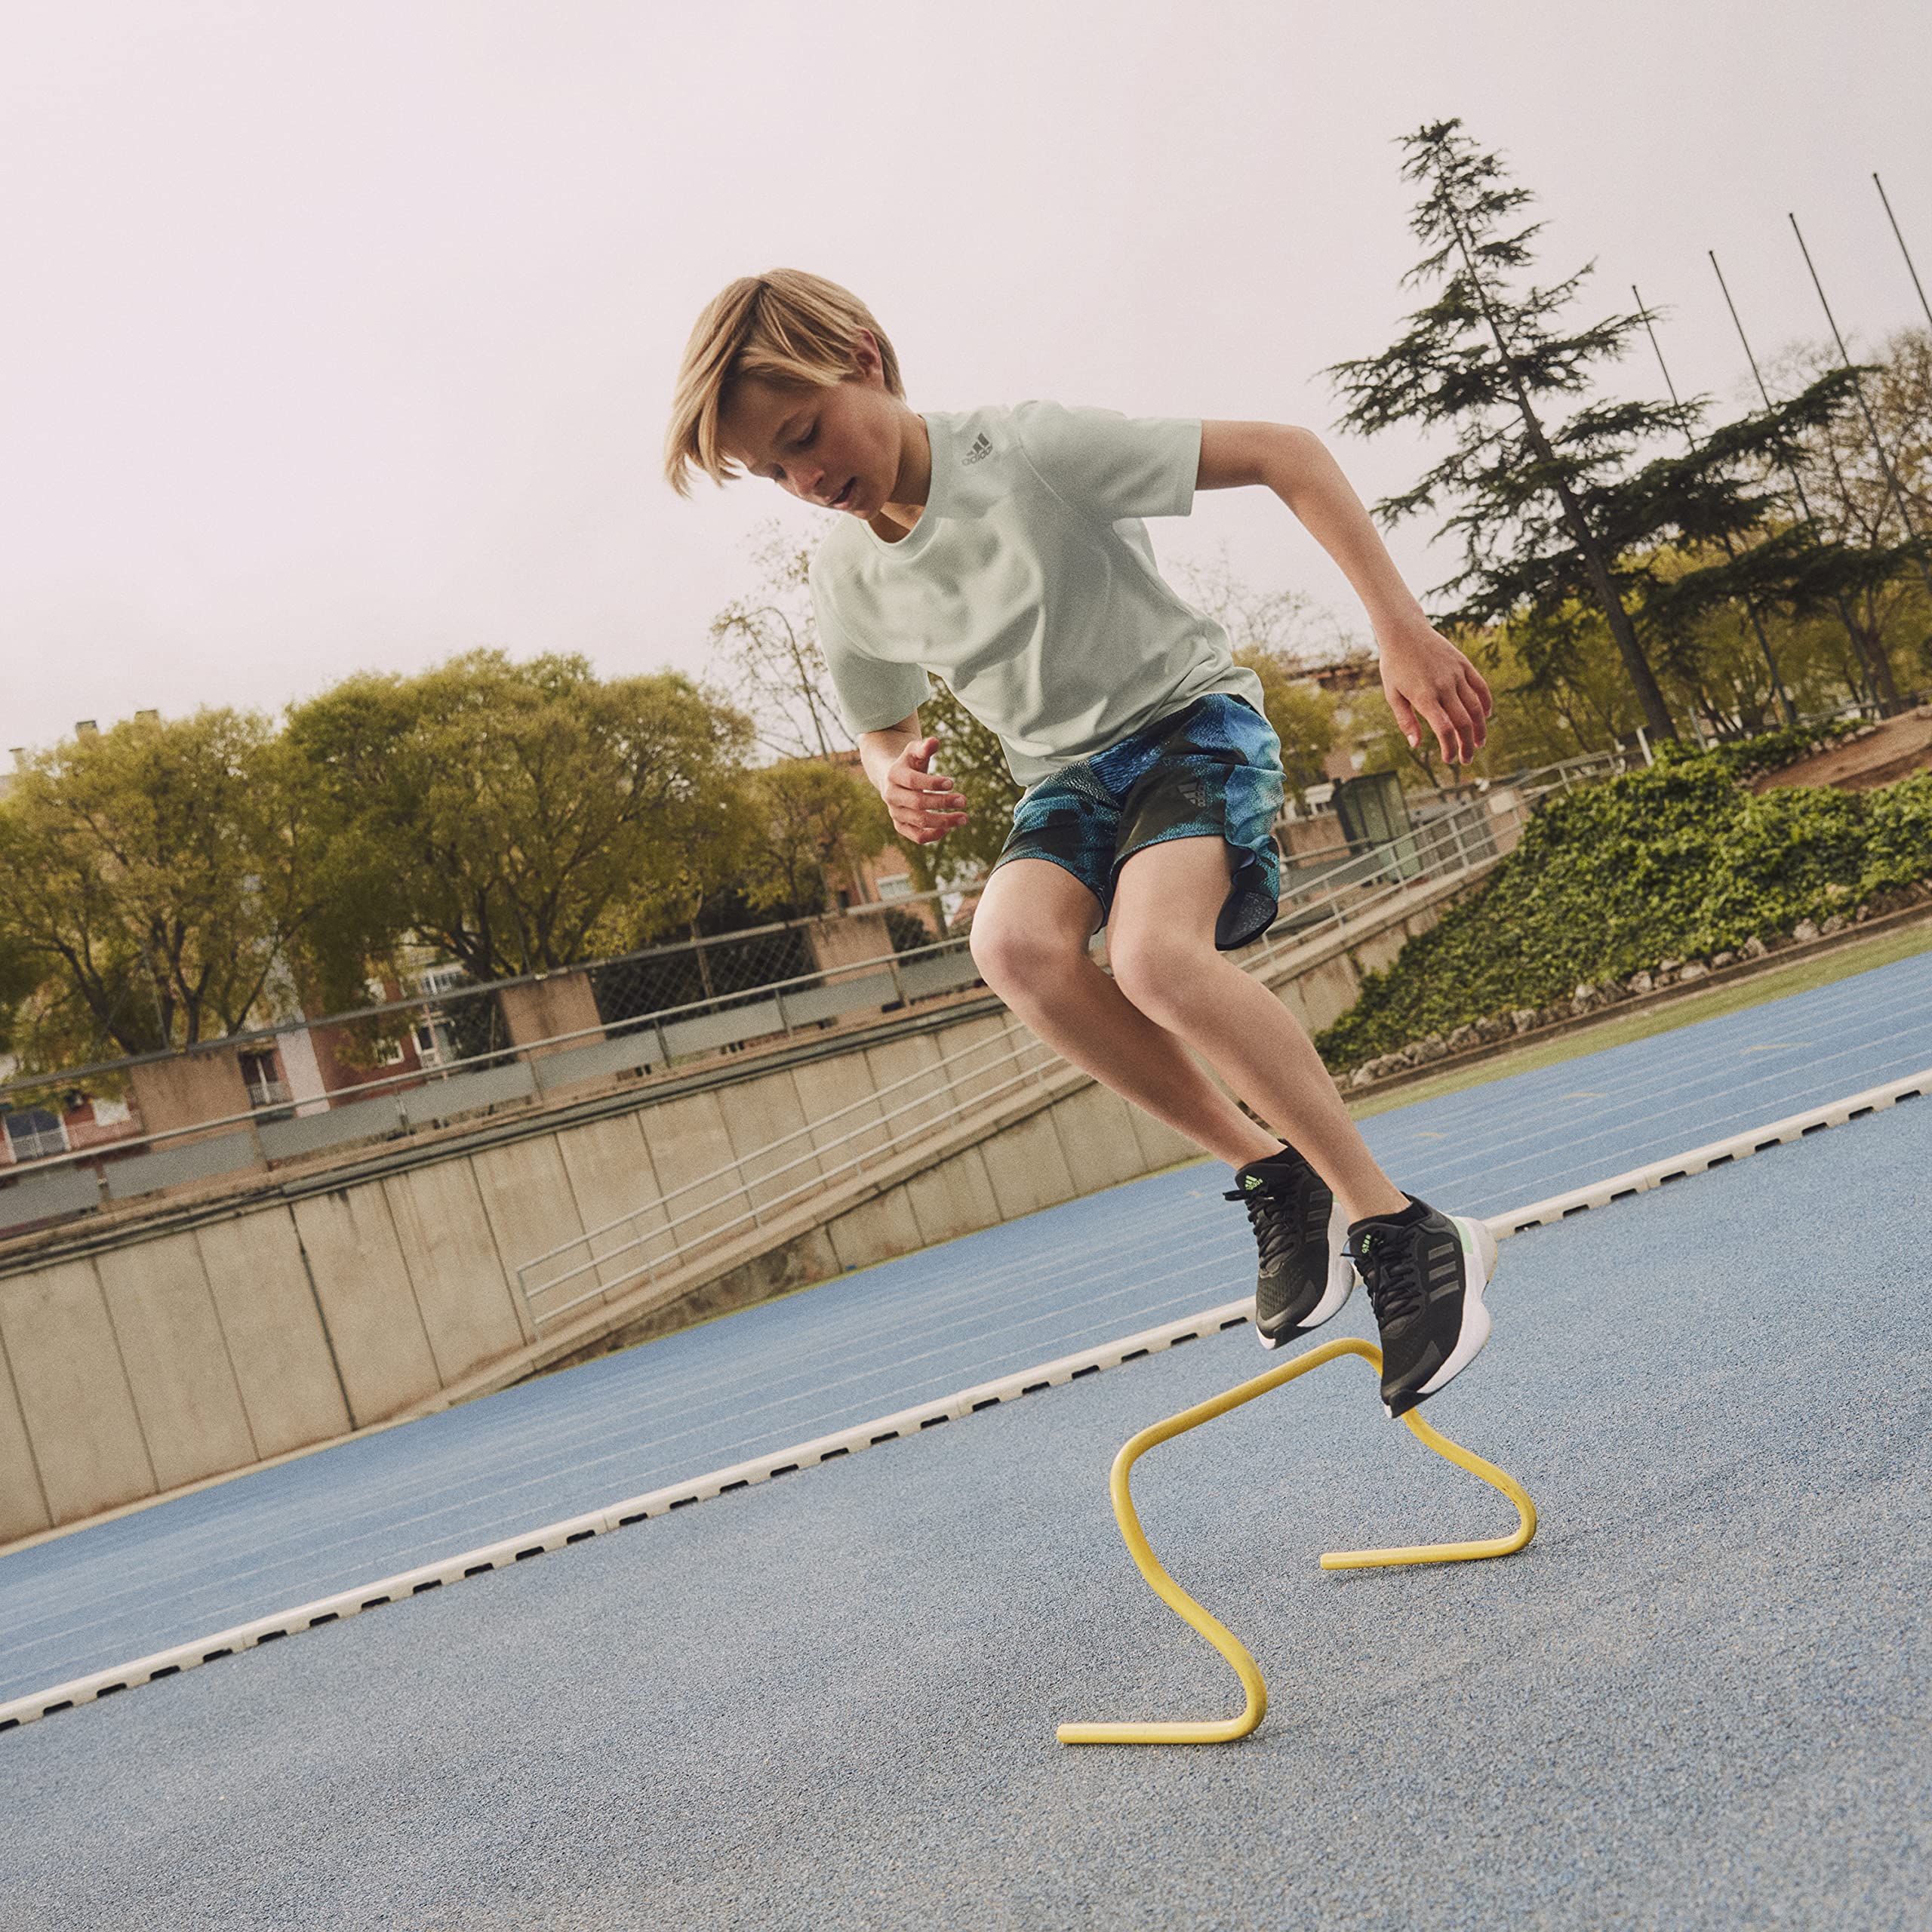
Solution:
<svg viewBox="0 0 1932 1932">
<path fill-rule="evenodd" d="M 665 481 L 690 497 L 692 469 L 701 469 L 721 489 L 732 475 L 744 475 L 719 450 L 719 412 L 730 384 L 753 375 L 790 388 L 831 388 L 856 371 L 862 328 L 879 344 L 887 390 L 904 400 L 898 355 L 852 290 L 802 269 L 771 269 L 742 274 L 713 296 L 678 363 L 665 431 Z"/>
</svg>

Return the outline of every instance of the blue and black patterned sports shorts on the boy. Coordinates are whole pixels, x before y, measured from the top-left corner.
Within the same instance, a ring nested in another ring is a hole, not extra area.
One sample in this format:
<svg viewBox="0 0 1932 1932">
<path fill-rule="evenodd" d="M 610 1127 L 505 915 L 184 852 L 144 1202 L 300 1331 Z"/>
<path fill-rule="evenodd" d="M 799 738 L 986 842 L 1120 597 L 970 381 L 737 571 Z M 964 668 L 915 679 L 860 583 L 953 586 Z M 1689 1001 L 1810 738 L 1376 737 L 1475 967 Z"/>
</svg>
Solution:
<svg viewBox="0 0 1932 1932">
<path fill-rule="evenodd" d="M 1244 697 L 1209 692 L 1119 744 L 1063 765 L 1012 808 L 1012 831 L 995 860 L 1043 858 L 1070 871 L 1113 910 L 1121 867 L 1163 838 L 1225 838 L 1235 877 L 1215 920 L 1221 952 L 1244 947 L 1275 920 L 1281 860 L 1281 740 Z"/>
</svg>

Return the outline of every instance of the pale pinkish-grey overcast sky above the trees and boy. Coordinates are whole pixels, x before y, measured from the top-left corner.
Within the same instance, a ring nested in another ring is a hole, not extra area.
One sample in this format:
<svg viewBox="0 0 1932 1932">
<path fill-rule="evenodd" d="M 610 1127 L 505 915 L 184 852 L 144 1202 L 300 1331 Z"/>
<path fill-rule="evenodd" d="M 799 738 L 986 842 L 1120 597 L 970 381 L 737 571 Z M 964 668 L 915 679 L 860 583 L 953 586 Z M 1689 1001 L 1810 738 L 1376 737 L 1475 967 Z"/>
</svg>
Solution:
<svg viewBox="0 0 1932 1932">
<path fill-rule="evenodd" d="M 1679 386 L 1731 396 L 1704 249 L 1760 352 L 1816 334 L 1787 209 L 1841 321 L 1920 319 L 1870 172 L 1932 270 L 1928 56 L 1918 0 L 15 10 L 0 746 L 477 643 L 701 672 L 752 526 L 825 524 L 659 479 L 697 307 L 773 265 L 871 303 L 914 408 L 1325 427 L 1318 371 L 1406 305 L 1393 137 L 1443 114 L 1540 195 L 1551 274 L 1640 282 Z M 1337 448 L 1366 497 L 1422 458 Z M 1264 491 L 1155 541 L 1349 612 Z"/>
</svg>

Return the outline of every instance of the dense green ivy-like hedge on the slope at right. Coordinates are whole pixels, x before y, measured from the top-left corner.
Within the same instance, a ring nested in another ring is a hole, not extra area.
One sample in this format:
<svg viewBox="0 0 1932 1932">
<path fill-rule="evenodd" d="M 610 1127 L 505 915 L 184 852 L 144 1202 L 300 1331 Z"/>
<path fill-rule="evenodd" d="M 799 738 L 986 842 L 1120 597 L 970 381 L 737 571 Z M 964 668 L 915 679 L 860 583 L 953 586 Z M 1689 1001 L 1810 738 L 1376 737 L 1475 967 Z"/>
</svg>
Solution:
<svg viewBox="0 0 1932 1932">
<path fill-rule="evenodd" d="M 1758 796 L 1739 775 L 1789 755 L 1758 761 L 1754 744 L 1673 748 L 1646 771 L 1544 804 L 1470 898 L 1364 980 L 1354 1009 L 1318 1036 L 1323 1061 L 1356 1066 L 1569 1001 L 1578 983 L 1735 952 L 1932 875 L 1932 773 L 1878 792 Z"/>
</svg>

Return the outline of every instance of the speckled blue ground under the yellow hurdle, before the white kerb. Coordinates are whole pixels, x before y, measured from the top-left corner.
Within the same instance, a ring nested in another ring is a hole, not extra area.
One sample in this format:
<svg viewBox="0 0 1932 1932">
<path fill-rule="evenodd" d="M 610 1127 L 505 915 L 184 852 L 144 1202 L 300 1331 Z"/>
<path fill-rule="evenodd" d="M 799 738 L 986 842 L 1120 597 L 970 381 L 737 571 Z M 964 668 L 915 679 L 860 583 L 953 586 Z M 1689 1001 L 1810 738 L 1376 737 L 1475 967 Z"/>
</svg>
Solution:
<svg viewBox="0 0 1932 1932">
<path fill-rule="evenodd" d="M 0 1932 L 1920 1932 L 1928 1171 L 1918 1099 L 1511 1240 L 1428 1412 L 1519 1555 L 1316 1567 L 1511 1524 L 1360 1362 L 1146 1457 L 1238 1745 L 1053 1741 L 1238 1708 L 1107 1509 L 1231 1331 L 8 1733 Z"/>
</svg>

